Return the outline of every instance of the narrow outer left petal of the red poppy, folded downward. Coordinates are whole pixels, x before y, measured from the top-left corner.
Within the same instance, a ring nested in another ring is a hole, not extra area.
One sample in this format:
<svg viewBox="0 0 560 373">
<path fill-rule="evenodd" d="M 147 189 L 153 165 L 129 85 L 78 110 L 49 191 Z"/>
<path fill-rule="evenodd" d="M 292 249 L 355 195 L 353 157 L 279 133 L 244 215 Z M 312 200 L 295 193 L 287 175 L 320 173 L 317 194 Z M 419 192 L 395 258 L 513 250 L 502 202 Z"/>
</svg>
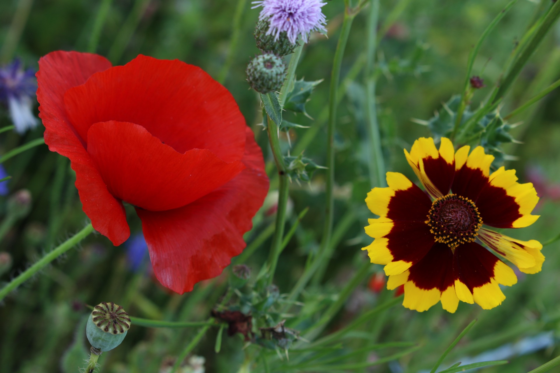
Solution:
<svg viewBox="0 0 560 373">
<path fill-rule="evenodd" d="M 69 124 L 64 92 L 83 84 L 96 72 L 111 67 L 105 58 L 89 53 L 55 51 L 39 60 L 37 100 L 45 126 L 45 143 L 52 152 L 68 157 L 76 171 L 82 209 L 97 232 L 119 245 L 130 235 L 122 203 L 113 197 L 86 149 Z"/>
</svg>

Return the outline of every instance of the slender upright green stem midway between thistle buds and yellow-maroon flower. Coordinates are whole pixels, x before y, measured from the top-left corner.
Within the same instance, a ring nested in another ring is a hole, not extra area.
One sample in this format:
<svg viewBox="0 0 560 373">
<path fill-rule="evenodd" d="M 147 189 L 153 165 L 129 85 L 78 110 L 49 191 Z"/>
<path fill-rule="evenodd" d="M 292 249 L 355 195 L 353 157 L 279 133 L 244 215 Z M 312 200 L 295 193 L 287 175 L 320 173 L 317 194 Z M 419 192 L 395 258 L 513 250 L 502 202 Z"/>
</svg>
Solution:
<svg viewBox="0 0 560 373">
<path fill-rule="evenodd" d="M 329 121 L 327 125 L 327 143 L 326 143 L 326 202 L 325 202 L 325 224 L 323 226 L 323 237 L 317 253 L 319 261 L 323 260 L 327 247 L 330 244 L 330 236 L 333 229 L 333 214 L 334 214 L 334 131 L 337 121 L 337 96 L 338 96 L 338 83 L 340 80 L 340 69 L 342 68 L 342 58 L 344 56 L 344 49 L 348 42 L 352 21 L 356 17 L 355 13 L 351 13 L 351 8 L 346 7 L 344 12 L 344 20 L 342 22 L 342 29 L 340 30 L 340 37 L 338 39 L 337 49 L 334 53 L 333 69 L 330 76 L 330 93 L 329 93 Z"/>
</svg>

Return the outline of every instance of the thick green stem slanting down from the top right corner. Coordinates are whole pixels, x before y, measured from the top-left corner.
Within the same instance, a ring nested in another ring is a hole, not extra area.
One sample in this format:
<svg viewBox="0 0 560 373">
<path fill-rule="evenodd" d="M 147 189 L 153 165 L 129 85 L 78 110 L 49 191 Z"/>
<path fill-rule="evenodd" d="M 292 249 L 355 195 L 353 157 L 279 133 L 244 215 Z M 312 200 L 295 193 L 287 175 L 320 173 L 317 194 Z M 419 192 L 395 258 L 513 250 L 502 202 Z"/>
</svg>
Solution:
<svg viewBox="0 0 560 373">
<path fill-rule="evenodd" d="M 552 8 L 548 12 L 547 16 L 544 18 L 543 23 L 540 25 L 539 29 L 536 30 L 533 39 L 529 42 L 525 49 L 521 51 L 519 56 L 514 62 L 514 65 L 511 69 L 507 72 L 506 77 L 503 78 L 503 81 L 500 83 L 499 87 L 497 87 L 497 93 L 493 97 L 492 103 L 496 103 L 501 101 L 502 98 L 506 95 L 507 91 L 510 89 L 511 84 L 517 79 L 519 74 L 521 73 L 521 69 L 525 66 L 528 62 L 529 58 L 535 53 L 535 50 L 538 48 L 540 43 L 543 41 L 544 37 L 548 34 L 548 31 L 552 29 L 552 26 L 560 17 L 560 2 L 557 1 L 553 4 Z"/>
</svg>

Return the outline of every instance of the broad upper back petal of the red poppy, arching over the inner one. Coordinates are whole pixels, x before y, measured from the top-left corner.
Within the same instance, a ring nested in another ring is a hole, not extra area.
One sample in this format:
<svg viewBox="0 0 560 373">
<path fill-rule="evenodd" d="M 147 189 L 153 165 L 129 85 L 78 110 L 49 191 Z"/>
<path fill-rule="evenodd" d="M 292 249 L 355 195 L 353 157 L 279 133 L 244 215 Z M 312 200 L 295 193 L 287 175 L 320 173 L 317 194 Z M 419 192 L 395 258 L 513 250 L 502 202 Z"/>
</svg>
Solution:
<svg viewBox="0 0 560 373">
<path fill-rule="evenodd" d="M 231 93 L 179 60 L 139 55 L 69 89 L 64 103 L 83 139 L 92 124 L 115 120 L 143 126 L 179 153 L 208 149 L 224 162 L 244 154 L 245 119 Z"/>
</svg>

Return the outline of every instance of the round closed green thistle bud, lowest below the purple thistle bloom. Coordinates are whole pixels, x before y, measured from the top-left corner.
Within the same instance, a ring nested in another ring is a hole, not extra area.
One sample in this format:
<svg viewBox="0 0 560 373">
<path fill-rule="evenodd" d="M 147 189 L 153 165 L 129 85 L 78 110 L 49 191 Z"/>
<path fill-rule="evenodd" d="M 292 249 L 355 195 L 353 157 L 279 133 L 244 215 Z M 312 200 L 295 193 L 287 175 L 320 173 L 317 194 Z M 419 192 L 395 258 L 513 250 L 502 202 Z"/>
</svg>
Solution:
<svg viewBox="0 0 560 373">
<path fill-rule="evenodd" d="M 259 93 L 275 92 L 286 78 L 286 65 L 272 53 L 256 56 L 247 66 L 247 80 Z"/>
</svg>

